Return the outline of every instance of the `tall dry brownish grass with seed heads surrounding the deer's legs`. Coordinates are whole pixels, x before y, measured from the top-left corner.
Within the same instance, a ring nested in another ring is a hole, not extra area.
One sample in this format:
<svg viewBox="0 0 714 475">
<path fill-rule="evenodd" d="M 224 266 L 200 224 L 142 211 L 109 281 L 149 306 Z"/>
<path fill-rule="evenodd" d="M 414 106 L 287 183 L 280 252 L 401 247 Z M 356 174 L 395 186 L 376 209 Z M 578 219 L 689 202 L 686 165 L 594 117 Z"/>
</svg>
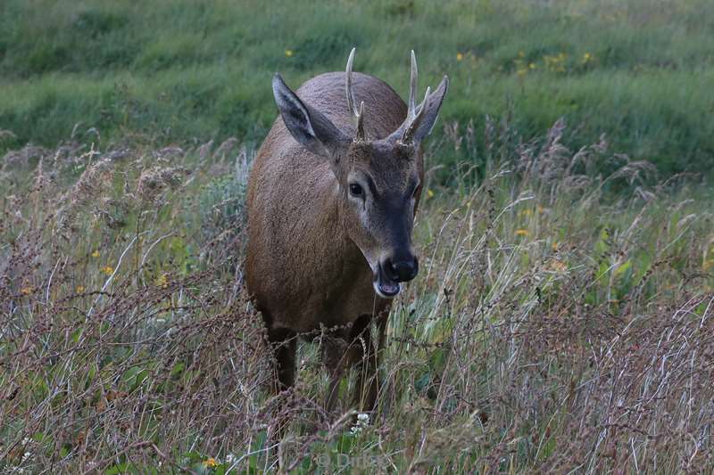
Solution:
<svg viewBox="0 0 714 475">
<path fill-rule="evenodd" d="M 487 166 L 429 184 L 422 271 L 395 301 L 378 413 L 356 426 L 324 414 L 315 344 L 295 391 L 266 390 L 237 141 L 8 154 L 0 469 L 706 472 L 710 197 L 652 184 L 604 140 L 571 152 L 563 127 L 520 143 L 487 121 L 479 150 L 473 127 L 446 128 L 430 156 Z M 618 171 L 595 176 L 602 161 Z M 278 410 L 295 422 L 274 446 Z"/>
</svg>

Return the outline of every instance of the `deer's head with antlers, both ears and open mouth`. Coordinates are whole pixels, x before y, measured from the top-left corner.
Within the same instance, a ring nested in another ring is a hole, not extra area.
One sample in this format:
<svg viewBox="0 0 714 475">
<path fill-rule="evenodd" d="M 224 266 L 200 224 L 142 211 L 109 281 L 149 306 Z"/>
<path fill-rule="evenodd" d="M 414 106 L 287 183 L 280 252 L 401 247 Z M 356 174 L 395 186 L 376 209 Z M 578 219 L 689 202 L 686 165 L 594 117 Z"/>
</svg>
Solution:
<svg viewBox="0 0 714 475">
<path fill-rule="evenodd" d="M 417 105 L 417 61 L 412 51 L 406 118 L 391 135 L 369 137 L 363 123 L 365 103 L 358 107 L 353 92 L 353 61 L 354 49 L 345 73 L 346 112 L 353 119 L 353 134 L 302 102 L 278 74 L 273 78 L 273 94 L 295 140 L 328 160 L 345 234 L 367 259 L 374 290 L 391 298 L 399 293 L 400 283 L 411 281 L 419 271 L 411 230 L 423 176 L 420 145 L 434 127 L 449 80 L 444 76 L 434 93 L 427 88 Z"/>
</svg>

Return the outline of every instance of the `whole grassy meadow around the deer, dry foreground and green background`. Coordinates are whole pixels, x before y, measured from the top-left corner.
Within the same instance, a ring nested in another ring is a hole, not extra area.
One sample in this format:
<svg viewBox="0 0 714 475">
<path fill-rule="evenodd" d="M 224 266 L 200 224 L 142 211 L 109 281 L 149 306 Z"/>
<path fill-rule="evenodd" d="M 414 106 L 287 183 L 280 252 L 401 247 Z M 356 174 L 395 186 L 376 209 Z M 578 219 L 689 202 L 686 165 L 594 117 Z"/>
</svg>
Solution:
<svg viewBox="0 0 714 475">
<path fill-rule="evenodd" d="M 709 472 L 711 8 L 0 4 L 0 472 Z M 242 274 L 270 76 L 353 44 L 452 78 L 357 422 L 322 335 L 270 393 Z"/>
</svg>

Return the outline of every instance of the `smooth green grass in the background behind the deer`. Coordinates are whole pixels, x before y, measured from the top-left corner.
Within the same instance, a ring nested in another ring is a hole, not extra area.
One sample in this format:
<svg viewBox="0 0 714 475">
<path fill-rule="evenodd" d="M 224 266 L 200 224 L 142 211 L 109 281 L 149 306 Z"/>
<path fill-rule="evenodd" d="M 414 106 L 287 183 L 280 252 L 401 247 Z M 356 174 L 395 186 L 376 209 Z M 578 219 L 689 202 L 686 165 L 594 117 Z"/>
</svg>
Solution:
<svg viewBox="0 0 714 475">
<path fill-rule="evenodd" d="M 354 45 L 356 69 L 402 94 L 411 48 L 422 87 L 449 74 L 442 124 L 509 117 L 528 139 L 565 117 L 574 147 L 605 134 L 666 174 L 702 171 L 714 158 L 713 18 L 704 0 L 8 0 L 0 129 L 15 137 L 0 147 L 54 147 L 92 127 L 102 143 L 259 143 L 276 116 L 271 75 L 298 86 L 344 69 Z"/>
</svg>

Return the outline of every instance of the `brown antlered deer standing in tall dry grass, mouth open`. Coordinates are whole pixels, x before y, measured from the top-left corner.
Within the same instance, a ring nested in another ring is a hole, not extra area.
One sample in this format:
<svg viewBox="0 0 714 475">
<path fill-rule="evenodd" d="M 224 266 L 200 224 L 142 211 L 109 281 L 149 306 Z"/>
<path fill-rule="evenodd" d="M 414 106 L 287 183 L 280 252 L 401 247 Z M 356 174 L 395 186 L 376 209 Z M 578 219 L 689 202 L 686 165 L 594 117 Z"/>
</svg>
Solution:
<svg viewBox="0 0 714 475">
<path fill-rule="evenodd" d="M 405 104 L 384 81 L 353 72 L 354 52 L 345 72 L 320 74 L 296 92 L 279 73 L 272 78 L 279 115 L 248 179 L 245 284 L 274 352 L 272 389 L 295 384 L 297 338 L 329 332 L 328 411 L 345 368 L 359 366 L 353 405 L 370 412 L 392 300 L 419 272 L 411 233 L 421 145 L 449 79 L 417 104 L 411 51 Z"/>
</svg>

